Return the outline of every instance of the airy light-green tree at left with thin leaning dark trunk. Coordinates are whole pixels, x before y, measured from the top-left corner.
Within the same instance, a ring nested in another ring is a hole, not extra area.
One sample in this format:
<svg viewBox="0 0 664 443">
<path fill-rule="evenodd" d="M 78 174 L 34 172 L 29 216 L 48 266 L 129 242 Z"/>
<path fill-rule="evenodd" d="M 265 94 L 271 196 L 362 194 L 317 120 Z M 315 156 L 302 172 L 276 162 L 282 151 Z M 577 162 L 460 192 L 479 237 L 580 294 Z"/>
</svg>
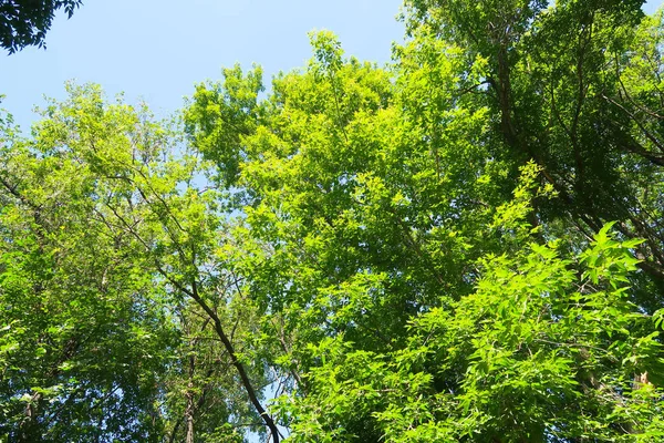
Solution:
<svg viewBox="0 0 664 443">
<path fill-rule="evenodd" d="M 209 256 L 217 194 L 178 190 L 199 163 L 146 109 L 68 89 L 34 138 L 4 127 L 0 435 L 236 442 L 264 382 L 241 354 L 250 303 Z"/>
</svg>

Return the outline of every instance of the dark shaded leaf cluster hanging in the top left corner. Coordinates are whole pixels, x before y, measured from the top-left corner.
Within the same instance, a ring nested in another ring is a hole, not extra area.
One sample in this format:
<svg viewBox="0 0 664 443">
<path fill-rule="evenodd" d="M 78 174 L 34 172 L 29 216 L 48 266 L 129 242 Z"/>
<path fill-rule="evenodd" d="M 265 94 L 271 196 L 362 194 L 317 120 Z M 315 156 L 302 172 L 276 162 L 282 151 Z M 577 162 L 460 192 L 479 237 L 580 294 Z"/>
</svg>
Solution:
<svg viewBox="0 0 664 443">
<path fill-rule="evenodd" d="M 71 19 L 82 0 L 0 1 L 0 44 L 10 54 L 30 45 L 45 47 L 46 31 L 59 9 Z"/>
</svg>

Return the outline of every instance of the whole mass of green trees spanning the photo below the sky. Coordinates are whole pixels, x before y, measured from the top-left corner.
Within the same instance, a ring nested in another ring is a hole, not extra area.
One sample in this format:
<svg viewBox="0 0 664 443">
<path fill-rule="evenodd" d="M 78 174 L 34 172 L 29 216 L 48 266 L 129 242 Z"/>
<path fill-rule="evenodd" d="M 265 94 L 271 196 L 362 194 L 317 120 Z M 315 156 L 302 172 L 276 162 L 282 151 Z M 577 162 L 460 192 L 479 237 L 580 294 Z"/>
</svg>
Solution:
<svg viewBox="0 0 664 443">
<path fill-rule="evenodd" d="M 664 441 L 664 16 L 406 0 L 175 119 L 0 114 L 0 441 Z"/>
</svg>

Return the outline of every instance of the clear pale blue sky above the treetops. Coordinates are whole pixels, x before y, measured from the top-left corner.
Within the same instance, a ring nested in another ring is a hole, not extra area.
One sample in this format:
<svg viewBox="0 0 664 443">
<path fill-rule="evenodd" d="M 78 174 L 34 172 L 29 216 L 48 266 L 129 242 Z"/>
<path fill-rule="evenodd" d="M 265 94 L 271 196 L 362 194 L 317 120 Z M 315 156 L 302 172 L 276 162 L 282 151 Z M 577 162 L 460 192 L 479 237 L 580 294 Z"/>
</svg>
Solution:
<svg viewBox="0 0 664 443">
<path fill-rule="evenodd" d="M 59 16 L 46 51 L 0 54 L 0 105 L 23 130 L 43 95 L 61 99 L 66 80 L 100 83 L 129 102 L 144 99 L 167 115 L 194 83 L 221 66 L 260 63 L 269 79 L 310 58 L 307 32 L 330 29 L 346 53 L 386 62 L 401 40 L 394 17 L 402 0 L 84 0 L 71 20 Z M 650 0 L 652 12 L 662 0 Z"/>
</svg>

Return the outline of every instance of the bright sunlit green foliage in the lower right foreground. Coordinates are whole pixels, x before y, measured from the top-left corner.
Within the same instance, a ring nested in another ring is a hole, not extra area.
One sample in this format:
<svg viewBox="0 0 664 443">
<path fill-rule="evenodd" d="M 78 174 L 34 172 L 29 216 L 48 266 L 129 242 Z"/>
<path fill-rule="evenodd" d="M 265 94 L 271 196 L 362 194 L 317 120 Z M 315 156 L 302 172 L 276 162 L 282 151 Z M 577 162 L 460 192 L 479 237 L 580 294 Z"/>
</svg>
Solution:
<svg viewBox="0 0 664 443">
<path fill-rule="evenodd" d="M 627 300 L 634 245 L 609 228 L 573 259 L 557 243 L 485 257 L 476 291 L 414 316 L 401 349 L 312 348 L 308 394 L 279 404 L 292 441 L 661 439 L 658 332 Z"/>
</svg>

